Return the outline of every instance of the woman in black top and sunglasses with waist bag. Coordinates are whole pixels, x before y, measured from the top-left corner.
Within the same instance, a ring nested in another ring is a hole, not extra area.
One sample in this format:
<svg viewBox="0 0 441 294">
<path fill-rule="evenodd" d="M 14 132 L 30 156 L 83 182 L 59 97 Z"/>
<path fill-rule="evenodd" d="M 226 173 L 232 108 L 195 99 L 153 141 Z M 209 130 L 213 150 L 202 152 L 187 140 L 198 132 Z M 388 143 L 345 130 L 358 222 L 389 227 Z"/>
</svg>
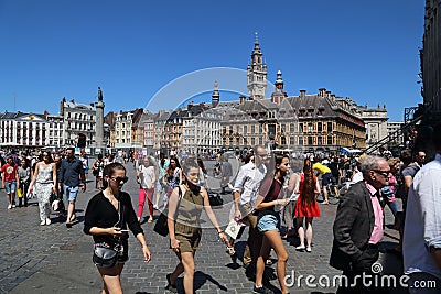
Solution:
<svg viewBox="0 0 441 294">
<path fill-rule="evenodd" d="M 126 168 L 120 163 L 110 163 L 104 167 L 106 189 L 95 195 L 87 204 L 84 232 L 92 235 L 95 246 L 116 248 L 118 258 L 114 266 L 97 265 L 104 282 L 103 293 L 122 293 L 120 275 L 128 254 L 128 229 L 130 229 L 142 247 L 144 262 L 150 261 L 150 250 L 147 246 L 143 231 L 130 195 L 122 192 L 128 181 Z"/>
</svg>

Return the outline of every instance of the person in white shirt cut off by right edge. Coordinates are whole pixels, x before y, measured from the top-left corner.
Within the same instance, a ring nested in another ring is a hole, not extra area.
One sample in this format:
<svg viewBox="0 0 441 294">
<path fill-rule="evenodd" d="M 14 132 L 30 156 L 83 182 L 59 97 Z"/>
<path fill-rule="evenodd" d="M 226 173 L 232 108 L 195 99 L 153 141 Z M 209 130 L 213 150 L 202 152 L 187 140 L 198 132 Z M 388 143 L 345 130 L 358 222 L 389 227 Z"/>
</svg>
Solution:
<svg viewBox="0 0 441 294">
<path fill-rule="evenodd" d="M 402 250 L 410 293 L 441 293 L 441 123 L 433 143 L 435 159 L 415 175 L 407 200 Z"/>
</svg>

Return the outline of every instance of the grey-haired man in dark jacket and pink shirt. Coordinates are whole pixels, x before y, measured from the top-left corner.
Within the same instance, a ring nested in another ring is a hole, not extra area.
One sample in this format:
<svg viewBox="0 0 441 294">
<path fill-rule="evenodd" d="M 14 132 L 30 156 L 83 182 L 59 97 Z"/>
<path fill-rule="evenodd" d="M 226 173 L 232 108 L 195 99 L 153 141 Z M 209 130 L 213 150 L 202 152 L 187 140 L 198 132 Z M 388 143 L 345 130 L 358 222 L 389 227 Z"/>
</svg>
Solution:
<svg viewBox="0 0 441 294">
<path fill-rule="evenodd" d="M 378 273 L 373 264 L 378 259 L 383 238 L 383 211 L 379 190 L 388 185 L 390 167 L 383 157 L 366 156 L 361 162 L 364 181 L 351 186 L 341 197 L 335 216 L 331 266 L 343 270 L 348 283 L 337 293 L 378 293 L 364 283 L 363 274 Z M 358 277 L 359 276 L 359 277 Z M 374 283 L 374 279 L 366 282 Z M 354 283 L 355 282 L 355 283 Z"/>
</svg>

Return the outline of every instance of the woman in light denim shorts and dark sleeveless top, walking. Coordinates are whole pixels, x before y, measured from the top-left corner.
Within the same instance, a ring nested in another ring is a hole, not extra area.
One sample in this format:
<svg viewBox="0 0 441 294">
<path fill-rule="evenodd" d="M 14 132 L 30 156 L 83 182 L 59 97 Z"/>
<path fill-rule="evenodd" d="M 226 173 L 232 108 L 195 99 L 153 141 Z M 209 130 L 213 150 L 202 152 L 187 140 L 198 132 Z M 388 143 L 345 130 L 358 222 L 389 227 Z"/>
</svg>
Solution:
<svg viewBox="0 0 441 294">
<path fill-rule="evenodd" d="M 284 283 L 288 252 L 280 237 L 280 209 L 286 206 L 290 199 L 283 198 L 284 176 L 290 168 L 288 155 L 276 155 L 275 171 L 263 179 L 259 189 L 259 196 L 256 200 L 256 210 L 259 213 L 257 228 L 263 235 L 260 253 L 256 263 L 256 284 L 254 293 L 267 293 L 263 287 L 265 260 L 268 259 L 271 248 L 277 254 L 277 276 L 282 294 L 288 293 Z"/>
</svg>

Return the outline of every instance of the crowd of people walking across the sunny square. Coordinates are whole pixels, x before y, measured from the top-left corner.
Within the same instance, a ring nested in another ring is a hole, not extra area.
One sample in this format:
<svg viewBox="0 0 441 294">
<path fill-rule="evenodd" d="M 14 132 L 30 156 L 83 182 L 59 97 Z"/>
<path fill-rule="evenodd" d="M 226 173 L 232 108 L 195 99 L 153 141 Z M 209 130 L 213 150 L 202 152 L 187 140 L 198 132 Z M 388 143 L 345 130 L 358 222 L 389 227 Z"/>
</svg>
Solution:
<svg viewBox="0 0 441 294">
<path fill-rule="evenodd" d="M 356 281 L 362 273 L 376 274 L 372 265 L 378 260 L 386 206 L 400 233 L 399 244 L 389 252 L 404 258 L 405 271 L 412 281 L 435 280 L 440 291 L 441 233 L 437 225 L 441 224 L 441 214 L 437 214 L 440 207 L 437 176 L 441 171 L 441 139 L 437 132 L 433 137 L 439 154 L 427 165 L 423 150 L 404 150 L 400 157 L 388 159 L 366 154 L 354 159 L 304 154 L 294 161 L 257 145 L 240 157 L 243 162 L 235 175 L 228 157 L 219 154 L 213 166 L 213 178 L 220 183 L 222 194 L 232 194 L 233 224 L 240 225 L 241 232 L 248 227 L 243 263 L 247 275 L 255 281 L 252 292 L 269 293 L 263 272 L 272 262 L 272 249 L 280 290 L 289 293 L 284 283 L 289 254 L 283 239 L 295 237 L 299 240 L 295 250 L 312 253 L 312 222 L 321 216 L 318 196 L 322 195 L 321 204 L 326 205 L 330 193 L 338 198 L 330 264 L 342 270 L 352 285 L 342 285 L 338 293 L 387 292 Z M 103 265 L 103 257 L 101 263 L 96 262 L 104 282 L 103 293 L 122 293 L 120 274 L 128 259 L 129 230 L 142 247 L 143 260 L 151 260 L 141 228 L 144 207 L 148 207 L 147 222 L 155 220 L 154 210 L 166 211 L 170 249 L 179 260 L 174 271 L 165 276 L 166 290 L 176 292 L 176 280 L 184 274 L 184 291 L 193 293 L 202 211 L 205 210 L 232 255 L 236 254 L 235 241 L 241 238 L 241 232 L 228 237 L 218 224 L 209 204 L 211 175 L 202 159 L 129 154 L 122 162 L 118 156 L 98 154 L 92 166 L 84 150 L 77 157 L 74 148 L 58 153 L 43 150 L 35 156 L 11 154 L 1 166 L 8 209 L 17 207 L 17 198 L 19 206 L 26 206 L 34 195 L 39 202 L 40 225 L 47 226 L 51 225 L 51 202 L 57 199 L 64 204 L 65 198 L 65 225 L 71 228 L 77 221 L 76 196 L 79 189 L 86 190 L 90 170 L 97 192 L 85 210 L 84 232 L 93 236 L 95 248 L 117 252 L 109 264 Z M 125 165 L 129 161 L 133 163 L 139 185 L 138 207 L 122 192 L 128 181 Z M 343 184 L 344 193 L 340 189 Z"/>
</svg>

